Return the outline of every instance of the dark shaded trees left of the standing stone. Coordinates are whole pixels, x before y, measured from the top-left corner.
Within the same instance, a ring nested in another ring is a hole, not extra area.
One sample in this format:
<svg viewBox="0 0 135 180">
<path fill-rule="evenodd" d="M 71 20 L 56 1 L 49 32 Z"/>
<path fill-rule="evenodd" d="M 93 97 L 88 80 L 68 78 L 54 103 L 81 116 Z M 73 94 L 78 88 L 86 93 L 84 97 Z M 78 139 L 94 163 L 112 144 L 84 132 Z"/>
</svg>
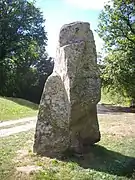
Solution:
<svg viewBox="0 0 135 180">
<path fill-rule="evenodd" d="M 0 0 L 0 95 L 39 103 L 53 70 L 43 14 L 27 0 Z"/>
</svg>

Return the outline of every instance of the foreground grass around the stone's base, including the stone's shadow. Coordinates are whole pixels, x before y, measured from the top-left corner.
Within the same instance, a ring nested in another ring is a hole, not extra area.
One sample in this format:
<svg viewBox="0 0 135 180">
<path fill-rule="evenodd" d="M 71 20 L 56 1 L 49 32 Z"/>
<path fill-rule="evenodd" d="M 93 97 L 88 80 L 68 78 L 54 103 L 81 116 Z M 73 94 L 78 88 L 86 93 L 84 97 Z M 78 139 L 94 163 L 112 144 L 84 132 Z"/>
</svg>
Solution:
<svg viewBox="0 0 135 180">
<path fill-rule="evenodd" d="M 100 115 L 101 141 L 83 157 L 64 160 L 32 153 L 34 130 L 1 138 L 0 179 L 2 180 L 129 180 L 135 169 L 134 115 Z M 21 150 L 21 151 L 18 151 Z M 25 153 L 24 153 L 25 152 Z M 27 152 L 27 153 L 26 153 Z M 37 173 L 16 172 L 17 166 L 42 167 Z"/>
</svg>

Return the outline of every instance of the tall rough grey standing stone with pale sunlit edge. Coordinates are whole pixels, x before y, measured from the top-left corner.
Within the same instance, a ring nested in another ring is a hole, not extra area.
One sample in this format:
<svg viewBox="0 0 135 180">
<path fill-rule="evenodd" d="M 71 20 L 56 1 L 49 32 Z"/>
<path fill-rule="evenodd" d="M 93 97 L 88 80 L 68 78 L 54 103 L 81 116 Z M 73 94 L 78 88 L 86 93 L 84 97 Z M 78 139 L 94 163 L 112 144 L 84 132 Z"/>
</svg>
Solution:
<svg viewBox="0 0 135 180">
<path fill-rule="evenodd" d="M 54 70 L 41 97 L 34 152 L 48 156 L 61 155 L 69 148 L 82 152 L 100 140 L 96 59 L 89 23 L 61 28 Z"/>
</svg>

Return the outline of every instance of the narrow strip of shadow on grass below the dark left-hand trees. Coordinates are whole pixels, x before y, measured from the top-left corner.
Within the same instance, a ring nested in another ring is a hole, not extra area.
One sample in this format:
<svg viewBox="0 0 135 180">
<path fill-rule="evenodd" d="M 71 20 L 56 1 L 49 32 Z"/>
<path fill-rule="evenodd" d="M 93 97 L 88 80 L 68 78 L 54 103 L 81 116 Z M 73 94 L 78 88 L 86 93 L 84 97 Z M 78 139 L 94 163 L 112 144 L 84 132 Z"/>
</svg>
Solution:
<svg viewBox="0 0 135 180">
<path fill-rule="evenodd" d="M 13 98 L 13 97 L 4 97 L 4 99 L 7 99 L 9 101 L 13 101 L 21 106 L 25 106 L 28 108 L 31 108 L 33 110 L 38 110 L 38 104 L 32 103 L 30 101 L 21 99 L 21 98 Z"/>
</svg>

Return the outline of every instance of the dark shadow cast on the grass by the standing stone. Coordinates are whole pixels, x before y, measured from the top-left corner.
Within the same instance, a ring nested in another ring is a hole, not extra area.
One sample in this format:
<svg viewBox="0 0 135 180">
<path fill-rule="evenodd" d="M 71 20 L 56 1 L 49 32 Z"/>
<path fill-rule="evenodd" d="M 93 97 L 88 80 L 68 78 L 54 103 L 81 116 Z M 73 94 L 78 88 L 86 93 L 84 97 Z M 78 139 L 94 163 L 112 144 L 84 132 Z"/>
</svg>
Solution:
<svg viewBox="0 0 135 180">
<path fill-rule="evenodd" d="M 66 161 L 76 162 L 80 167 L 90 168 L 117 176 L 131 177 L 135 170 L 135 158 L 93 145 L 89 153 L 82 156 L 71 155 Z"/>
</svg>

